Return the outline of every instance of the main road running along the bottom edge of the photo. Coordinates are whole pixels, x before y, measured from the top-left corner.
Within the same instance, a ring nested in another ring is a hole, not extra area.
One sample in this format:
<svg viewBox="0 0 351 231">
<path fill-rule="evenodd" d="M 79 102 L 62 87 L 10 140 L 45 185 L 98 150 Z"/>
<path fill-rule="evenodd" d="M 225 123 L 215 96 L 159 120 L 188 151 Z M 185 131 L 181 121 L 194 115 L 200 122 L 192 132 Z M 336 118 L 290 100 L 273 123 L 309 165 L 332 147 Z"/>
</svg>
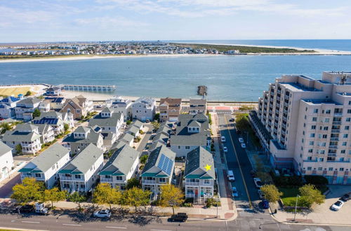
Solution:
<svg viewBox="0 0 351 231">
<path fill-rule="evenodd" d="M 79 220 L 79 219 L 78 219 Z M 293 225 L 282 224 L 272 220 L 267 214 L 250 214 L 239 212 L 236 220 L 226 221 L 204 221 L 189 220 L 186 223 L 171 223 L 166 218 L 145 218 L 141 216 L 129 216 L 128 218 L 112 218 L 100 220 L 88 218 L 78 221 L 76 216 L 69 215 L 11 215 L 0 214 L 1 228 L 22 228 L 30 230 L 150 230 L 150 231 L 246 231 L 246 230 L 304 230 L 304 231 L 346 231 L 345 227 L 329 227 L 317 225 Z M 1 229 L 0 228 L 0 229 Z"/>
</svg>

